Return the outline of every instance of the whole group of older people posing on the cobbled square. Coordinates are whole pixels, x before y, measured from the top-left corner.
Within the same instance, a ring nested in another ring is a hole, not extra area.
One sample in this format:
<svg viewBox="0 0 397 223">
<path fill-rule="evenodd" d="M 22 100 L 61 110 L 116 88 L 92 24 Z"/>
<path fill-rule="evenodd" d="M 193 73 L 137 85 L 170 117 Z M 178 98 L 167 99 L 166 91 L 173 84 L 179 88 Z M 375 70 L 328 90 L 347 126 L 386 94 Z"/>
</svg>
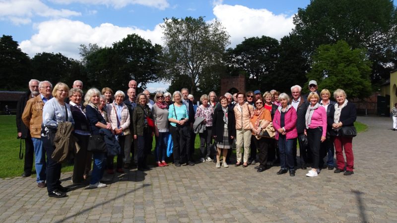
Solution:
<svg viewBox="0 0 397 223">
<path fill-rule="evenodd" d="M 139 171 L 149 170 L 146 160 L 151 154 L 153 136 L 158 167 L 168 166 L 170 147 L 176 167 L 194 166 L 194 143 L 199 134 L 199 161 L 213 161 L 216 168 L 229 167 L 231 149 L 235 146 L 235 167 L 258 162 L 255 169 L 262 172 L 279 163 L 277 174 L 289 172 L 294 176 L 299 144 L 300 168 L 312 167 L 307 176 L 317 176 L 326 166 L 330 170 L 335 167 L 334 148 L 337 160 L 334 172 L 354 173 L 352 137 L 343 134 L 342 128 L 353 126 L 355 107 L 341 89 L 333 93 L 336 102 L 331 101 L 331 92 L 323 89 L 319 93 L 314 80 L 309 82 L 310 93 L 306 96 L 301 95 L 302 88 L 298 85 L 291 87 L 292 98 L 275 90 L 264 94 L 257 90 L 226 93 L 217 100 L 215 92 L 210 92 L 200 97 L 200 105 L 194 105 L 194 97 L 186 88 L 172 95 L 156 92 L 154 101 L 148 90 L 136 95 L 135 80 L 129 82 L 126 93 L 119 90 L 114 94 L 105 87 L 102 91 L 91 88 L 84 95 L 82 88 L 79 80 L 69 89 L 62 82 L 53 88 L 49 81 L 33 79 L 29 82 L 30 92 L 18 102 L 18 136 L 26 141 L 22 176 L 31 174 L 34 153 L 37 185 L 47 187 L 51 197 L 64 197 L 67 192 L 60 181 L 61 164 L 53 160 L 54 136 L 65 122 L 72 124 L 70 139 L 76 141 L 72 183 L 84 183 L 92 166 L 90 188 L 107 186 L 105 170 L 108 174 L 115 170 L 123 173 L 133 165 Z M 266 136 L 266 129 L 273 129 L 275 135 Z M 107 152 L 90 152 L 93 135 L 116 143 L 107 142 Z"/>
</svg>

